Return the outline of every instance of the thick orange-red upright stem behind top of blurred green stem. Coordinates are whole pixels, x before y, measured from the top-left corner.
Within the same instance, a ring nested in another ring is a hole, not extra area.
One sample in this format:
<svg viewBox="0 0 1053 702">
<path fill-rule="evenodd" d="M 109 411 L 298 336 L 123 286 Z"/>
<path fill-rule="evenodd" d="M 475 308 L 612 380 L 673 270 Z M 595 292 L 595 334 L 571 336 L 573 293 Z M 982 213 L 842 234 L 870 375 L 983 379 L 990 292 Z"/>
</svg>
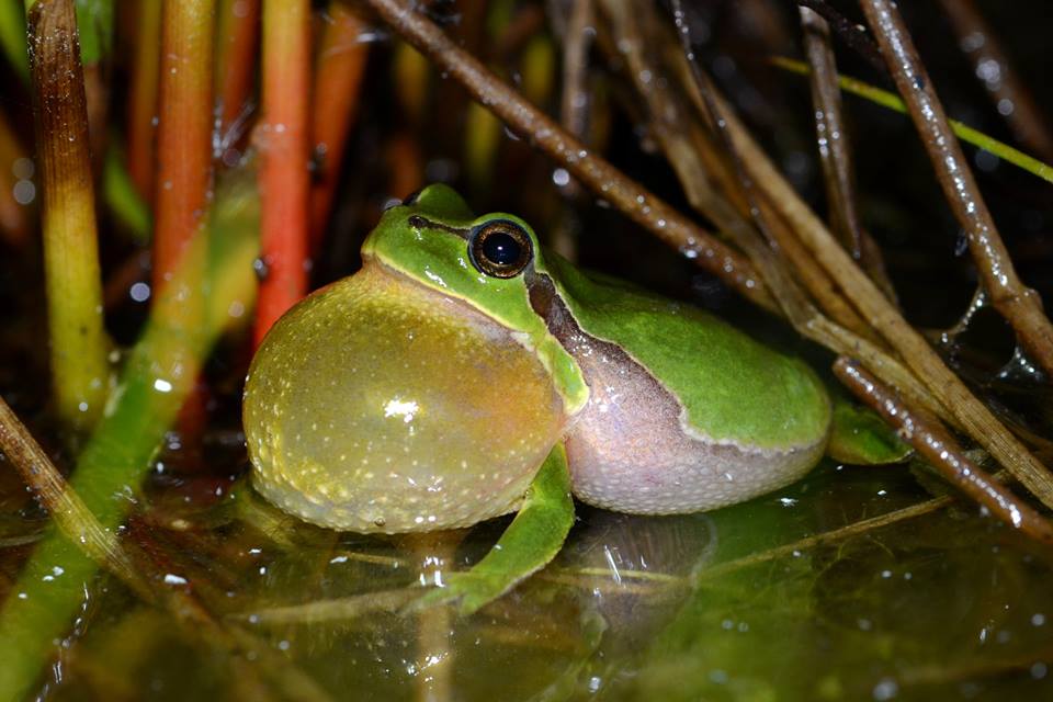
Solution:
<svg viewBox="0 0 1053 702">
<path fill-rule="evenodd" d="M 154 288 L 170 279 L 193 239 L 212 189 L 212 55 L 208 0 L 165 0 Z"/>
</svg>

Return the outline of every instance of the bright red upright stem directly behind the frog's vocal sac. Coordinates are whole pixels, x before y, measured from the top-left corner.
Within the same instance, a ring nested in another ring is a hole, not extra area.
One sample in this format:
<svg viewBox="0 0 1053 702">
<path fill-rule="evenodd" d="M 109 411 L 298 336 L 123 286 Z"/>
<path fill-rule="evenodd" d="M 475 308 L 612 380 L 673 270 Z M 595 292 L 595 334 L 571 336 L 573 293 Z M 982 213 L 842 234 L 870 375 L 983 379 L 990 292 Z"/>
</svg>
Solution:
<svg viewBox="0 0 1053 702">
<path fill-rule="evenodd" d="M 263 0 L 260 147 L 263 260 L 253 340 L 307 293 L 310 3 Z"/>
</svg>

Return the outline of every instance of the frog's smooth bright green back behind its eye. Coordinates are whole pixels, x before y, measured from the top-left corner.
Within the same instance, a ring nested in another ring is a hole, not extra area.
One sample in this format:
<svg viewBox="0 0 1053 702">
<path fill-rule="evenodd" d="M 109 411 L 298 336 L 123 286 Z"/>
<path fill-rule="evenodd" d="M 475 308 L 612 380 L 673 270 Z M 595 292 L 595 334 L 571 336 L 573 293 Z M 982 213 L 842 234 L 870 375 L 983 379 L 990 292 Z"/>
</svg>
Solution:
<svg viewBox="0 0 1053 702">
<path fill-rule="evenodd" d="M 771 450 L 825 437 L 829 398 L 803 362 L 701 309 L 592 280 L 550 251 L 544 257 L 582 329 L 650 369 L 680 399 L 699 432 Z"/>
</svg>

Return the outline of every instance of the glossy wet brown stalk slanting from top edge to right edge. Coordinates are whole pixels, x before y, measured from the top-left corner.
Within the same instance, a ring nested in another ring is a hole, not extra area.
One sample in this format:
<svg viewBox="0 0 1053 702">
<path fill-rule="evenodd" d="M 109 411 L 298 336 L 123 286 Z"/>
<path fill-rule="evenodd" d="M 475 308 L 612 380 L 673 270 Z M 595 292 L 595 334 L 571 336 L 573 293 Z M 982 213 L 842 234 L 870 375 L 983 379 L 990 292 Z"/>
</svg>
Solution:
<svg viewBox="0 0 1053 702">
<path fill-rule="evenodd" d="M 888 71 L 921 136 L 940 186 L 959 224 L 990 301 L 1024 350 L 1053 375 L 1053 325 L 1038 293 L 1023 285 L 954 137 L 899 11 L 891 0 L 860 0 Z"/>
</svg>

